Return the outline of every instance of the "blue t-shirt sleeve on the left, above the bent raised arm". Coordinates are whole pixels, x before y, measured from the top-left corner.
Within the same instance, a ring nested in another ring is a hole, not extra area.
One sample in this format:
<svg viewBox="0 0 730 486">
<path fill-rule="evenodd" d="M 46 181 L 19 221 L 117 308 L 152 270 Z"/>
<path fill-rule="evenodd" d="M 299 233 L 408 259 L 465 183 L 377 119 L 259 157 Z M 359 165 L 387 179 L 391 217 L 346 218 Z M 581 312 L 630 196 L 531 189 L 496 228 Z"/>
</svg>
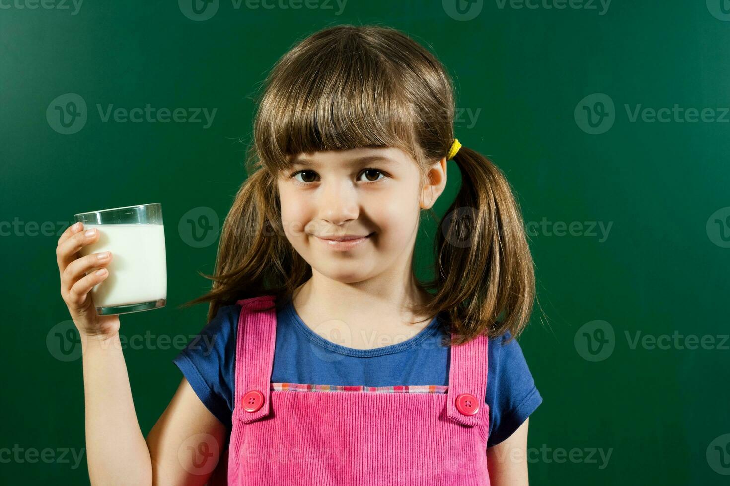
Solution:
<svg viewBox="0 0 730 486">
<path fill-rule="evenodd" d="M 231 429 L 236 336 L 241 307 L 226 305 L 172 360 L 203 404 Z"/>
</svg>

